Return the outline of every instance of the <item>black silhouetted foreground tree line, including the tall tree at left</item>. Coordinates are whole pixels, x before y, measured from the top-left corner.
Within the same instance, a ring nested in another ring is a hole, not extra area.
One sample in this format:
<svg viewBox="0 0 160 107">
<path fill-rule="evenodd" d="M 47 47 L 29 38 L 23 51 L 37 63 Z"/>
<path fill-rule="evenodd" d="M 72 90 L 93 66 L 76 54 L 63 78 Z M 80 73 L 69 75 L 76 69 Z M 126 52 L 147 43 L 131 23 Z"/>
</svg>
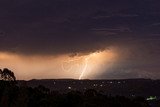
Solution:
<svg viewBox="0 0 160 107">
<path fill-rule="evenodd" d="M 0 107 L 150 107 L 143 97 L 104 95 L 94 89 L 62 93 L 41 85 L 33 88 L 13 84 L 16 77 L 7 68 L 0 74 Z"/>
</svg>

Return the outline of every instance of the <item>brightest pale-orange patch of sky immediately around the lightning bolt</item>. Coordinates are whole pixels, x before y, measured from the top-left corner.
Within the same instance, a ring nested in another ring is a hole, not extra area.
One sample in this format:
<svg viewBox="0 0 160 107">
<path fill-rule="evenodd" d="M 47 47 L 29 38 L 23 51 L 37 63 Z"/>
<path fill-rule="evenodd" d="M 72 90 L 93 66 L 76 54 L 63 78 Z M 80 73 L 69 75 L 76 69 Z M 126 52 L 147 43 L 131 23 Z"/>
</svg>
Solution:
<svg viewBox="0 0 160 107">
<path fill-rule="evenodd" d="M 113 61 L 115 54 L 111 51 L 95 52 L 84 56 L 75 56 L 63 61 L 62 70 L 67 72 L 77 71 L 78 79 L 83 79 L 86 75 L 91 75 L 90 72 L 96 74 L 97 71 L 106 68 L 106 60 Z M 109 63 L 109 62 L 108 62 Z M 110 66 L 111 64 L 107 64 Z"/>
</svg>

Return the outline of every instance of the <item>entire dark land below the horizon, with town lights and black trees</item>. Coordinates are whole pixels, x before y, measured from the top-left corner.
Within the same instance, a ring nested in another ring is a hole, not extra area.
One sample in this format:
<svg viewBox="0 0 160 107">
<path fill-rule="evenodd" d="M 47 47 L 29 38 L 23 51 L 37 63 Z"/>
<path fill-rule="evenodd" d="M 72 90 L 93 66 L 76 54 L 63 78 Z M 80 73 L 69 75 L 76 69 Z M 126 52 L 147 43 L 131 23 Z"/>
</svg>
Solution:
<svg viewBox="0 0 160 107">
<path fill-rule="evenodd" d="M 149 79 L 1 80 L 0 107 L 160 107 L 159 83 Z"/>
</svg>

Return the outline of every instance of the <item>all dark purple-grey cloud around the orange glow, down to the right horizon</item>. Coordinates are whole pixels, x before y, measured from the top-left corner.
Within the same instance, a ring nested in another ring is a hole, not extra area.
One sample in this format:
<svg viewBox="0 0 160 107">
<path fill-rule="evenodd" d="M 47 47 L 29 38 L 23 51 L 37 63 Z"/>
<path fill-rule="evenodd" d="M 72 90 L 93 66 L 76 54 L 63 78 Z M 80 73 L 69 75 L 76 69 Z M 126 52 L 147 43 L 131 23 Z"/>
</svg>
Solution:
<svg viewBox="0 0 160 107">
<path fill-rule="evenodd" d="M 0 52 L 74 57 L 114 47 L 119 60 L 101 78 L 143 77 L 145 73 L 158 78 L 159 3 L 158 0 L 2 0 Z"/>
</svg>

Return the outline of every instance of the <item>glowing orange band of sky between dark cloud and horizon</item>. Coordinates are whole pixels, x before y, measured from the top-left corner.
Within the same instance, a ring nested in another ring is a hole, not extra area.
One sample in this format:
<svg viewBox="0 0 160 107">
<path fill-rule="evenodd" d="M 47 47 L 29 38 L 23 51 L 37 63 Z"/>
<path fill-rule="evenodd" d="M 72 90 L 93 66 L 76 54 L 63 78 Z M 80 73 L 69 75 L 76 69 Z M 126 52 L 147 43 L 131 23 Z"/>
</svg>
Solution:
<svg viewBox="0 0 160 107">
<path fill-rule="evenodd" d="M 18 79 L 53 77 L 87 79 L 95 78 L 96 75 L 112 67 L 116 57 L 116 53 L 111 50 L 74 57 L 68 55 L 22 56 L 0 53 L 0 66 L 12 69 Z"/>
</svg>

